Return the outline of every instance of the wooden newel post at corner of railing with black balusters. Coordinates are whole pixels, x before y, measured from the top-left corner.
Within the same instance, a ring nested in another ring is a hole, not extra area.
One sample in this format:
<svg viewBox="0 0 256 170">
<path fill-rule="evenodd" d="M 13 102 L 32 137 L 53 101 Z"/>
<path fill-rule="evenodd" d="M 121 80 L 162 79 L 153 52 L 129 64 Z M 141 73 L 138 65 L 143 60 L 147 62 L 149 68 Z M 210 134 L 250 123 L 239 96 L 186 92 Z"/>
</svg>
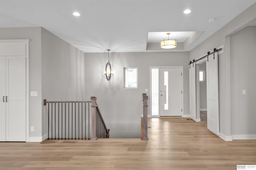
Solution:
<svg viewBox="0 0 256 170">
<path fill-rule="evenodd" d="M 90 98 L 92 100 L 92 137 L 91 140 L 92 141 L 96 141 L 97 137 L 96 137 L 96 115 L 97 115 L 97 103 L 96 100 L 98 99 L 97 96 L 95 97 L 91 97 Z"/>
</svg>

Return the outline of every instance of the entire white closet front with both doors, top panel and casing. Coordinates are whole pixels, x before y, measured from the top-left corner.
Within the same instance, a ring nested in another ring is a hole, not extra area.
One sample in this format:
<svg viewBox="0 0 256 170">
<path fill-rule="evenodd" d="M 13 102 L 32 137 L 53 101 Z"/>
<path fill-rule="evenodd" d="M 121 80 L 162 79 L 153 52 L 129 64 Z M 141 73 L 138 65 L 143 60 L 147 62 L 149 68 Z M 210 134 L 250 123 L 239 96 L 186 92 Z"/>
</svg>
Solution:
<svg viewBox="0 0 256 170">
<path fill-rule="evenodd" d="M 28 42 L 0 40 L 0 141 L 29 141 Z"/>
</svg>

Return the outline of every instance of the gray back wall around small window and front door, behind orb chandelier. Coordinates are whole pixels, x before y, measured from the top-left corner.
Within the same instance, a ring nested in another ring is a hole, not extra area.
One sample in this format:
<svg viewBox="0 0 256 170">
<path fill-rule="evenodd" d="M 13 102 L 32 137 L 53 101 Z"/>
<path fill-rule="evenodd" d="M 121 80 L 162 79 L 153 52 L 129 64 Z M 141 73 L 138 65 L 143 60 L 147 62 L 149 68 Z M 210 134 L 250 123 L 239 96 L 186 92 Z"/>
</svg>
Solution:
<svg viewBox="0 0 256 170">
<path fill-rule="evenodd" d="M 98 96 L 98 105 L 108 128 L 110 137 L 140 137 L 142 93 L 150 89 L 150 66 L 184 67 L 184 114 L 189 114 L 188 52 L 113 53 L 110 63 L 117 70 L 108 82 L 101 75 L 107 63 L 107 53 L 85 53 L 86 98 Z M 138 88 L 124 88 L 124 67 L 138 67 Z M 146 92 L 148 95 L 150 92 Z M 150 109 L 150 106 L 149 106 Z"/>
</svg>

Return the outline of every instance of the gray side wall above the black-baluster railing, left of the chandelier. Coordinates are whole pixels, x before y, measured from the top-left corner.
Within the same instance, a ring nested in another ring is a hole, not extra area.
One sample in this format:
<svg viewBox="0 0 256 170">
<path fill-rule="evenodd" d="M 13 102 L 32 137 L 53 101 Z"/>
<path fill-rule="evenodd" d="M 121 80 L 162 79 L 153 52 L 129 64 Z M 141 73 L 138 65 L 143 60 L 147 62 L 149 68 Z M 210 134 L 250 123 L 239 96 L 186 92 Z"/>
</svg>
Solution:
<svg viewBox="0 0 256 170">
<path fill-rule="evenodd" d="M 42 28 L 42 99 L 84 101 L 84 52 Z M 42 107 L 43 135 L 48 133 L 48 112 Z"/>
</svg>

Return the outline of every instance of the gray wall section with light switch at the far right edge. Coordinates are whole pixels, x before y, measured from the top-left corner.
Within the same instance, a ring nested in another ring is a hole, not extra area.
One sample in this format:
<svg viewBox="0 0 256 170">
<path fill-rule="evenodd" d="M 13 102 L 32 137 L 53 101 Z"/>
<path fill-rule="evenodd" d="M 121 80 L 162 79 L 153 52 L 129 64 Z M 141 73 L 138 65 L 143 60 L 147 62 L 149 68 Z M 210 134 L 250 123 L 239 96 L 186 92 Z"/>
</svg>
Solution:
<svg viewBox="0 0 256 170">
<path fill-rule="evenodd" d="M 256 135 L 255 47 L 255 26 L 230 36 L 232 135 Z"/>
</svg>

